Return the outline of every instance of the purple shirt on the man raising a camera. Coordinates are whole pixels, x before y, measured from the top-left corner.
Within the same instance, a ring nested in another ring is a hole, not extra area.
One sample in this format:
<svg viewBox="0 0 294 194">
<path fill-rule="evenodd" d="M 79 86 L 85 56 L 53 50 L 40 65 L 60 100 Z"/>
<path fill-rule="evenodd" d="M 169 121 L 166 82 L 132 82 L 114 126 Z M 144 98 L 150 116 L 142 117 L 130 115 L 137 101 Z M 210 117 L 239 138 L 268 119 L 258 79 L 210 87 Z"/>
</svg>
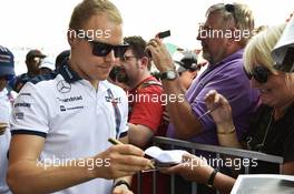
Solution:
<svg viewBox="0 0 294 194">
<path fill-rule="evenodd" d="M 204 98 L 209 90 L 216 90 L 223 94 L 232 106 L 233 120 L 241 136 L 248 130 L 249 116 L 258 106 L 258 91 L 252 89 L 249 80 L 243 71 L 243 49 L 227 57 L 215 65 L 208 65 L 198 79 L 196 79 L 186 93 L 193 113 L 196 118 L 204 114 L 207 109 Z M 203 132 L 189 141 L 218 145 L 216 126 L 209 114 L 200 119 Z M 175 129 L 170 123 L 167 130 L 168 137 L 175 137 Z"/>
</svg>

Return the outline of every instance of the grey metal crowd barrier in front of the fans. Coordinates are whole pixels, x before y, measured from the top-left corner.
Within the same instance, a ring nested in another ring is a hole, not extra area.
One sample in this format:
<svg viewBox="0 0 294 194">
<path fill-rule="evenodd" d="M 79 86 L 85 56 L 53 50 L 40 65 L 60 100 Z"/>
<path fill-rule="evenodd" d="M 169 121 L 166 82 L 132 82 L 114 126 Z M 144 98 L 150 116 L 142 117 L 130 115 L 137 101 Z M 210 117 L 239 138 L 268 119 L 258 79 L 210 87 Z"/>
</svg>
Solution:
<svg viewBox="0 0 294 194">
<path fill-rule="evenodd" d="M 224 147 L 224 146 L 216 146 L 216 145 L 207 145 L 207 144 L 200 144 L 200 143 L 193 143 L 182 140 L 175 140 L 175 139 L 168 139 L 163 136 L 155 136 L 153 139 L 154 145 L 160 146 L 160 145 L 169 145 L 170 149 L 175 147 L 183 147 L 188 149 L 192 151 L 193 154 L 196 153 L 196 151 L 204 151 L 216 154 L 215 159 L 220 159 L 220 154 L 225 155 L 232 155 L 243 159 L 255 159 L 257 161 L 264 161 L 270 163 L 275 163 L 280 165 L 280 174 L 282 173 L 282 164 L 283 164 L 283 157 L 275 156 L 275 155 L 268 155 L 261 152 L 253 152 L 247 150 L 241 150 L 241 149 L 232 149 L 232 147 Z M 156 194 L 156 173 L 153 173 L 153 194 Z M 245 166 L 245 174 L 249 174 L 249 166 Z M 170 194 L 175 194 L 175 175 L 170 175 Z M 138 174 L 138 194 L 141 193 L 140 191 L 140 174 Z M 196 194 L 197 191 L 197 183 L 192 183 L 192 194 Z M 218 193 L 218 192 L 217 192 Z M 160 193 L 161 194 L 161 193 Z"/>
</svg>

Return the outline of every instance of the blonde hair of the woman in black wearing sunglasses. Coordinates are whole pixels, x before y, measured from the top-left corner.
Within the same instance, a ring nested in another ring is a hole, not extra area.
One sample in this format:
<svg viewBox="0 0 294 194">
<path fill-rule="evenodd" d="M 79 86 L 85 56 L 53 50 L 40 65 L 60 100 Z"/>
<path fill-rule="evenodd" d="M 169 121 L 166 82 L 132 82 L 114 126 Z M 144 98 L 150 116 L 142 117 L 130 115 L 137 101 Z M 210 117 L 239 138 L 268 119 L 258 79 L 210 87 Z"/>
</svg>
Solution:
<svg viewBox="0 0 294 194">
<path fill-rule="evenodd" d="M 285 23 L 271 27 L 254 35 L 244 51 L 244 67 L 247 72 L 252 72 L 253 64 L 262 64 L 271 72 L 276 73 L 274 60 L 271 52 L 281 38 Z"/>
</svg>

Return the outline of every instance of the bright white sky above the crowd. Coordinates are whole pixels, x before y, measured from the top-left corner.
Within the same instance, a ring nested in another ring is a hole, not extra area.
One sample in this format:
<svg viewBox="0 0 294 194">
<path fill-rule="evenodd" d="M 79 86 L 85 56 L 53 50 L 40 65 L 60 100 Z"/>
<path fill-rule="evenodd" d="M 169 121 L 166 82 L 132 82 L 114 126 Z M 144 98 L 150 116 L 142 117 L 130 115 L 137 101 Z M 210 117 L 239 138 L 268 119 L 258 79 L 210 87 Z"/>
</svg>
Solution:
<svg viewBox="0 0 294 194">
<path fill-rule="evenodd" d="M 30 49 L 56 57 L 69 49 L 67 29 L 75 6 L 81 0 L 0 0 L 0 44 L 16 57 L 17 74 L 26 71 Z M 197 24 L 205 21 L 207 8 L 219 0 L 111 0 L 124 18 L 124 35 L 151 39 L 170 30 L 165 41 L 185 49 L 199 48 Z M 293 0 L 236 0 L 251 7 L 256 25 L 278 24 L 294 11 Z"/>
</svg>

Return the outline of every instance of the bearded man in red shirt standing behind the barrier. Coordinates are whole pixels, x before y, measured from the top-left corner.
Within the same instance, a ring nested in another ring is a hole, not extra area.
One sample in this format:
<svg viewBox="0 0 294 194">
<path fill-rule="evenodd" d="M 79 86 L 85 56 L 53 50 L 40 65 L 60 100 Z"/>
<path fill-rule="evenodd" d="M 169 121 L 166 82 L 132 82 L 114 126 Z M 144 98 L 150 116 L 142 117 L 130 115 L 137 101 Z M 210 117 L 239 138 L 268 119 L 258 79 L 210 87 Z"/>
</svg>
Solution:
<svg viewBox="0 0 294 194">
<path fill-rule="evenodd" d="M 129 44 L 120 67 L 116 73 L 116 81 L 128 88 L 129 100 L 129 143 L 146 147 L 154 135 L 165 135 L 167 123 L 163 119 L 165 100 L 161 83 L 150 74 L 150 61 L 146 55 L 146 42 L 141 37 L 124 39 Z M 157 193 L 166 192 L 166 175 L 157 176 Z M 133 180 L 133 191 L 137 188 L 137 178 Z M 141 174 L 141 193 L 153 193 L 153 173 Z M 164 184 L 165 182 L 165 184 Z M 163 183 L 163 184 L 158 184 Z"/>
</svg>

